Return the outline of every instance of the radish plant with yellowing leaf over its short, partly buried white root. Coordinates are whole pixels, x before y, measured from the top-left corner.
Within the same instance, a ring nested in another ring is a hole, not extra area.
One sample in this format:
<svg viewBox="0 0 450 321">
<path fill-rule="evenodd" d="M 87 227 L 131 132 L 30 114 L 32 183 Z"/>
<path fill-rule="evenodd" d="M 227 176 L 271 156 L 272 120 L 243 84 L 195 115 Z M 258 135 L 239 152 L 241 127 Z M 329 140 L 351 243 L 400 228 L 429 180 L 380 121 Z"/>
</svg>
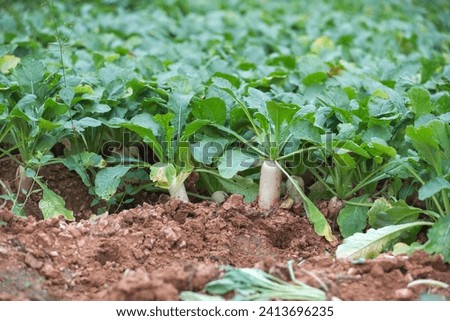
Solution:
<svg viewBox="0 0 450 321">
<path fill-rule="evenodd" d="M 165 104 L 166 113 L 141 113 L 131 120 L 113 118 L 109 125 L 137 133 L 156 159 L 156 163 L 148 164 L 150 179 L 157 187 L 167 190 L 172 198 L 189 202 L 184 184 L 194 169 L 189 139 L 209 121 L 197 119 L 187 123 L 193 97 L 189 81 L 175 77 L 170 85 L 172 92 Z M 121 174 L 124 175 L 125 170 Z"/>
</svg>

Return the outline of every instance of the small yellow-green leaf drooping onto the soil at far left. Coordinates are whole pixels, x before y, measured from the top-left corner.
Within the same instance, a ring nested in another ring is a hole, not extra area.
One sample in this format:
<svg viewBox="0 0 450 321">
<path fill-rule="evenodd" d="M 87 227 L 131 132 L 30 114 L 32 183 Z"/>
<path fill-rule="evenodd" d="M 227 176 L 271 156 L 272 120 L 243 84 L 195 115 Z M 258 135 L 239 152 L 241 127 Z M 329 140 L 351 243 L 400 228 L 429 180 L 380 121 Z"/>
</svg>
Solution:
<svg viewBox="0 0 450 321">
<path fill-rule="evenodd" d="M 39 209 L 44 219 L 50 217 L 64 216 L 68 221 L 74 221 L 73 212 L 65 206 L 63 198 L 49 189 L 44 183 L 38 183 L 42 188 L 42 199 L 39 201 Z"/>
</svg>

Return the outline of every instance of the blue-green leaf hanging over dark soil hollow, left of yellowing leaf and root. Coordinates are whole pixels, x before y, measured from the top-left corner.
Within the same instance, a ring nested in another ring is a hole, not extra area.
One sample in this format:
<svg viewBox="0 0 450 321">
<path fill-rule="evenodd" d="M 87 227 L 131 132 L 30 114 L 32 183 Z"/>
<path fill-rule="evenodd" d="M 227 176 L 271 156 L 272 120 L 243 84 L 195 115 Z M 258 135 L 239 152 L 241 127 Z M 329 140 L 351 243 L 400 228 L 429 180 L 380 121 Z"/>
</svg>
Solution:
<svg viewBox="0 0 450 321">
<path fill-rule="evenodd" d="M 95 176 L 95 194 L 104 200 L 109 200 L 116 193 L 122 177 L 130 168 L 118 165 L 100 170 Z"/>
</svg>

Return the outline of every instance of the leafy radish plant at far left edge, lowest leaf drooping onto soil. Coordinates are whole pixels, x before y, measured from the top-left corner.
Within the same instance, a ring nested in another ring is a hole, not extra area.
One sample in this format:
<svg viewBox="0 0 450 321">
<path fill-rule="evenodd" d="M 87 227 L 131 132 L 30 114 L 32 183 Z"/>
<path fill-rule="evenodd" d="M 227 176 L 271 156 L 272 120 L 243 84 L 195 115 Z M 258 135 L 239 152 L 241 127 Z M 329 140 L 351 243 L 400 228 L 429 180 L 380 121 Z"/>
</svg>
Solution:
<svg viewBox="0 0 450 321">
<path fill-rule="evenodd" d="M 39 176 L 42 166 L 58 162 L 51 148 L 70 135 L 63 126 L 68 107 L 51 97 L 57 90 L 59 76 L 46 72 L 44 64 L 34 57 L 23 58 L 12 75 L 16 82 L 11 82 L 3 93 L 2 102 L 4 119 L 9 124 L 5 125 L 4 142 L 10 147 L 2 152 L 19 165 L 13 209 L 23 214 L 24 203 L 35 192 L 33 187 L 37 183 L 43 192 L 40 208 L 44 218 L 63 214 L 73 219 L 72 212 L 64 208 L 63 199 Z M 20 157 L 11 154 L 13 149 Z"/>
</svg>

